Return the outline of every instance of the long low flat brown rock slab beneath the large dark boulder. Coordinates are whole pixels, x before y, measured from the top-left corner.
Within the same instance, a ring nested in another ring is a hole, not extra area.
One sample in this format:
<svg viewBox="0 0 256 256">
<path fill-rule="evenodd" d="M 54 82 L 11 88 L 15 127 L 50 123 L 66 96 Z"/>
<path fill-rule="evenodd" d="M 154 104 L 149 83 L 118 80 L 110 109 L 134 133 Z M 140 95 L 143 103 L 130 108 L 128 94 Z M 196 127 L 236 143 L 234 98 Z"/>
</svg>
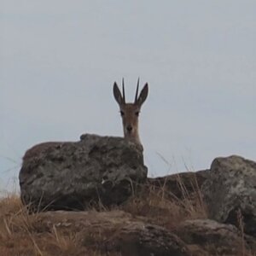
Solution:
<svg viewBox="0 0 256 256">
<path fill-rule="evenodd" d="M 38 219 L 44 230 L 74 230 L 79 247 L 95 248 L 101 255 L 190 255 L 183 241 L 171 231 L 127 212 L 42 212 Z"/>
</svg>

